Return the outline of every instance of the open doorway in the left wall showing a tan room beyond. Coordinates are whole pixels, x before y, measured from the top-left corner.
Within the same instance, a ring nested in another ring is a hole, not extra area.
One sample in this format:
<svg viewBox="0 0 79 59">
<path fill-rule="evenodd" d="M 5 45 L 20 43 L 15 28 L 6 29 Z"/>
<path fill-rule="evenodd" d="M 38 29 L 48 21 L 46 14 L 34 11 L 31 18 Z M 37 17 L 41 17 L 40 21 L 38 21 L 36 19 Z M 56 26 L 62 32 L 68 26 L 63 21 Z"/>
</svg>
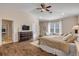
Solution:
<svg viewBox="0 0 79 59">
<path fill-rule="evenodd" d="M 12 43 L 13 21 L 2 19 L 2 44 Z"/>
</svg>

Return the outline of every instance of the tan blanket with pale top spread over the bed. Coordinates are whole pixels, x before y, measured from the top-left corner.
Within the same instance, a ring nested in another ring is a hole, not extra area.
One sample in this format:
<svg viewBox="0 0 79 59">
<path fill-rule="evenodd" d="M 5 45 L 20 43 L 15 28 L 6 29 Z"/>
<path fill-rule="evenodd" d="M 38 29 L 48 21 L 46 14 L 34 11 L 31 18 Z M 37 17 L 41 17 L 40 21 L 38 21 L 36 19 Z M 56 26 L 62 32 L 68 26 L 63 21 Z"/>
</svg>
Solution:
<svg viewBox="0 0 79 59">
<path fill-rule="evenodd" d="M 39 44 L 47 45 L 52 48 L 56 48 L 65 53 L 69 52 L 69 45 L 67 42 L 62 40 L 60 36 L 44 36 L 39 38 Z"/>
</svg>

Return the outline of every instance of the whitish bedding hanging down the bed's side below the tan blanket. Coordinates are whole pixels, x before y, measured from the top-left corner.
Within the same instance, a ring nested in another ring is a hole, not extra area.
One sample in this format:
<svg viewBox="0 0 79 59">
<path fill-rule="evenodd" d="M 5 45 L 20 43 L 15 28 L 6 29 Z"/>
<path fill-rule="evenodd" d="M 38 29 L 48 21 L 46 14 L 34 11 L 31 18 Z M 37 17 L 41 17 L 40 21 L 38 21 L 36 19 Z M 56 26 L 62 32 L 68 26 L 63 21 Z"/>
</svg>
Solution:
<svg viewBox="0 0 79 59">
<path fill-rule="evenodd" d="M 47 45 L 39 45 L 41 49 L 48 53 L 56 54 L 58 56 L 76 56 L 76 46 L 74 43 L 69 43 L 69 53 L 64 53 L 61 50 L 51 48 Z"/>
</svg>

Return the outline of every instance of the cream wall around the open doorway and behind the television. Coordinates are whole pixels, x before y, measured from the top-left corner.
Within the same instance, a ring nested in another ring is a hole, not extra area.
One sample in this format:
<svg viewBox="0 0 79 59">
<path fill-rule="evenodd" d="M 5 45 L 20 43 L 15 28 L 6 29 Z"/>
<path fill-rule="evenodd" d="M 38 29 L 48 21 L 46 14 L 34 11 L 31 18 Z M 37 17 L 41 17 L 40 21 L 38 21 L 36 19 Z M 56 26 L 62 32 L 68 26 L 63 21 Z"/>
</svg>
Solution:
<svg viewBox="0 0 79 59">
<path fill-rule="evenodd" d="M 12 20 L 13 21 L 13 41 L 18 41 L 18 31 L 21 28 L 22 24 L 30 25 L 32 29 L 32 25 L 35 24 L 35 33 L 36 37 L 39 35 L 39 21 L 35 17 L 33 17 L 28 12 L 18 11 L 16 9 L 0 9 L 0 42 L 2 40 L 1 28 L 2 28 L 2 19 Z"/>
</svg>

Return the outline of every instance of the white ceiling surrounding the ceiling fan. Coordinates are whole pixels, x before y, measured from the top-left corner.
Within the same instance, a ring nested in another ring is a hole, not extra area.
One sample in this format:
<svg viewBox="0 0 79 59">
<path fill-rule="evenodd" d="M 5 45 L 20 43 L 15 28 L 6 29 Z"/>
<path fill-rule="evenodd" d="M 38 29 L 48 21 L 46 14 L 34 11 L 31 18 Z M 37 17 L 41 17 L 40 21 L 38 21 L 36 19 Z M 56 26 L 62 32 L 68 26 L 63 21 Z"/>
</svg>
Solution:
<svg viewBox="0 0 79 59">
<path fill-rule="evenodd" d="M 0 4 L 0 8 L 5 9 L 17 9 L 23 12 L 30 12 L 40 20 L 53 20 L 63 17 L 73 16 L 79 14 L 79 3 L 49 3 L 51 5 L 50 10 L 53 13 L 40 12 L 36 8 L 40 7 L 40 3 L 9 3 Z"/>
</svg>

